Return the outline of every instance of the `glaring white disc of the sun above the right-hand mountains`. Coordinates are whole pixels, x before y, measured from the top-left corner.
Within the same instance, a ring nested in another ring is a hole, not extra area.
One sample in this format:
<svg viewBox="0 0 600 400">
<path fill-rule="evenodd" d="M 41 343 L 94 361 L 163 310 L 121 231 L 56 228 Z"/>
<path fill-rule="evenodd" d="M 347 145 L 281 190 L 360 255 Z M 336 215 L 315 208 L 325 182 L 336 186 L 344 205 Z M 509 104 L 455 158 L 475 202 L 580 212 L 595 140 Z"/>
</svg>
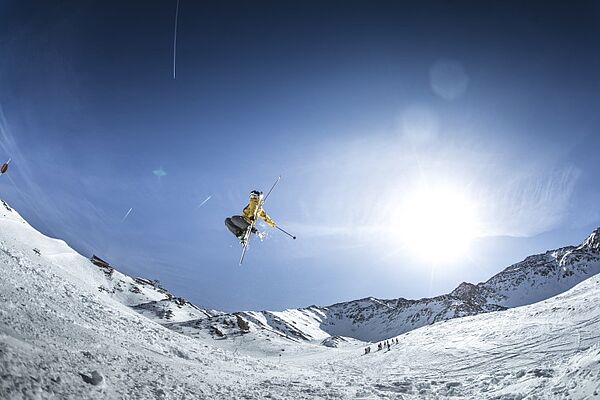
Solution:
<svg viewBox="0 0 600 400">
<path fill-rule="evenodd" d="M 414 256 L 434 263 L 458 261 L 477 234 L 477 210 L 461 191 L 420 187 L 400 206 L 399 235 Z"/>
</svg>

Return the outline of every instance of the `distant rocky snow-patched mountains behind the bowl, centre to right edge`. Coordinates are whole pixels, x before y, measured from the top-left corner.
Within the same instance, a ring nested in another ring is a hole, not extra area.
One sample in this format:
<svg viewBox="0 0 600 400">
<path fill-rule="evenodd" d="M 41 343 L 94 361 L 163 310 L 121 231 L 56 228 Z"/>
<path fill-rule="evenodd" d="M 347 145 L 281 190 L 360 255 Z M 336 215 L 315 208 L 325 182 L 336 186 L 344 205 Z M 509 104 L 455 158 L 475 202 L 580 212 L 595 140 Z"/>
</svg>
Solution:
<svg viewBox="0 0 600 400">
<path fill-rule="evenodd" d="M 527 257 L 477 285 L 462 283 L 447 295 L 420 300 L 369 297 L 327 307 L 221 314 L 172 324 L 194 335 L 208 330 L 217 337 L 239 334 L 239 318 L 257 335 L 322 341 L 331 336 L 380 341 L 438 321 L 532 304 L 572 288 L 600 272 L 600 228 L 581 245 Z"/>
</svg>

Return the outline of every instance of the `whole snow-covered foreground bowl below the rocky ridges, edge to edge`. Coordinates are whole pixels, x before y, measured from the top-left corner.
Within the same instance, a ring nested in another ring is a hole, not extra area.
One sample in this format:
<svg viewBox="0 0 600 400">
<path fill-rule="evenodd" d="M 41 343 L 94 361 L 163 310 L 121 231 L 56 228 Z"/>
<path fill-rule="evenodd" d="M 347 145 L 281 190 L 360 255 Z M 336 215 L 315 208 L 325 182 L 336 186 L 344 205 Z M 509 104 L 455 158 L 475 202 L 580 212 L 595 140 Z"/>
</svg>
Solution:
<svg viewBox="0 0 600 400">
<path fill-rule="evenodd" d="M 0 212 L 0 268 L 1 399 L 600 399 L 598 275 L 364 355 L 353 339 L 167 329 L 100 291 L 100 269 L 14 211 Z"/>
</svg>

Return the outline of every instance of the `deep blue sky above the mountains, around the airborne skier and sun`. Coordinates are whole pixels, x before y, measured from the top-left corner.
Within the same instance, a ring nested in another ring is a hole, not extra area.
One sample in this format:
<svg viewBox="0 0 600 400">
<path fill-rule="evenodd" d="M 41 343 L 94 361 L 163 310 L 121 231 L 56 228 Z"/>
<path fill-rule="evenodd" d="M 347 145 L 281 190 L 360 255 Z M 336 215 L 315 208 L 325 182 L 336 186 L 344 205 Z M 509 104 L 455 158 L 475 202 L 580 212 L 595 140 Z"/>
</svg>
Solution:
<svg viewBox="0 0 600 400">
<path fill-rule="evenodd" d="M 441 294 L 600 225 L 597 3 L 181 0 L 175 80 L 176 1 L 124 3 L 0 2 L 1 197 L 82 254 L 282 309 Z M 223 220 L 278 175 L 298 240 L 240 268 Z M 469 199 L 461 257 L 414 251 L 415 193 Z"/>
</svg>

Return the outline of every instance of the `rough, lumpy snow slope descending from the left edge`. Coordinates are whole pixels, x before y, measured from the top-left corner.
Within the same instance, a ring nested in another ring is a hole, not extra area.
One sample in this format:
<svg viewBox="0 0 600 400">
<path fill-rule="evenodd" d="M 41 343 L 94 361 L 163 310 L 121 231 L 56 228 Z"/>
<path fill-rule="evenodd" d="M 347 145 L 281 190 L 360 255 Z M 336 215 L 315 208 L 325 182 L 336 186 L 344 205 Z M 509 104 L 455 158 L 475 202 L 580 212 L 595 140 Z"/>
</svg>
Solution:
<svg viewBox="0 0 600 400">
<path fill-rule="evenodd" d="M 117 271 L 107 276 L 8 206 L 0 271 L 0 399 L 234 398 L 246 369 L 269 369 L 134 312 L 130 305 L 165 294 Z"/>
</svg>

